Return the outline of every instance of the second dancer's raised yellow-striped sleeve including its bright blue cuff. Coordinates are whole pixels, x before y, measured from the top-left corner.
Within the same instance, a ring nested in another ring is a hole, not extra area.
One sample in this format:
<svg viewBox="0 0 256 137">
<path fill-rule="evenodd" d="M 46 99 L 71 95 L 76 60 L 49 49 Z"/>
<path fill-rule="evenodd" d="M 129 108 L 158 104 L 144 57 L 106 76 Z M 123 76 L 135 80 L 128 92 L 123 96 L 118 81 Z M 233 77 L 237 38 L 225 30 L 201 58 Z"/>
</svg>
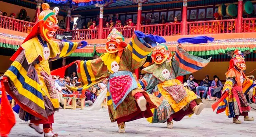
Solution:
<svg viewBox="0 0 256 137">
<path fill-rule="evenodd" d="M 156 43 L 166 42 L 164 38 L 154 35 L 145 35 L 135 31 L 130 43 L 125 47 L 122 58 L 126 61 L 131 71 L 145 63 L 147 56 L 154 50 Z"/>
</svg>

